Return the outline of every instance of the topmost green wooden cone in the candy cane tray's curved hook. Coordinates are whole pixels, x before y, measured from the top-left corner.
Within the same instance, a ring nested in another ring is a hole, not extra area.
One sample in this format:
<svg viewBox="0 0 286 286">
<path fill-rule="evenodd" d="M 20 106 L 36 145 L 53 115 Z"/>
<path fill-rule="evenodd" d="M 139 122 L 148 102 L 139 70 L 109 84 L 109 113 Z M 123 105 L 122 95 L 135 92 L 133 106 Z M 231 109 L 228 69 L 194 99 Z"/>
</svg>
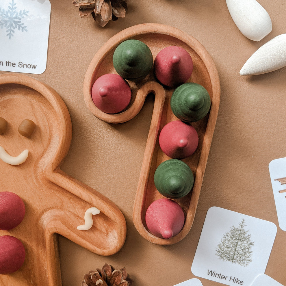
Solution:
<svg viewBox="0 0 286 286">
<path fill-rule="evenodd" d="M 113 66 L 124 79 L 146 76 L 153 65 L 153 56 L 146 44 L 139 40 L 126 40 L 118 45 L 113 54 Z"/>
</svg>

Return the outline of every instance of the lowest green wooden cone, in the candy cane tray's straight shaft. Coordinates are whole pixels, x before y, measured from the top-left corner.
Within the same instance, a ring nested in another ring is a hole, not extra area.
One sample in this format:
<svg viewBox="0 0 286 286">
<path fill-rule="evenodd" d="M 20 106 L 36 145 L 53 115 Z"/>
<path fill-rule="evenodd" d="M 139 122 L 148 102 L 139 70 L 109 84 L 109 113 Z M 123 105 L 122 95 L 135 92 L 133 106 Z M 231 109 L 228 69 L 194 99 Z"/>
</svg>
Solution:
<svg viewBox="0 0 286 286">
<path fill-rule="evenodd" d="M 154 183 L 163 196 L 182 198 L 192 189 L 194 175 L 186 163 L 178 159 L 170 159 L 158 166 L 154 174 Z"/>
</svg>

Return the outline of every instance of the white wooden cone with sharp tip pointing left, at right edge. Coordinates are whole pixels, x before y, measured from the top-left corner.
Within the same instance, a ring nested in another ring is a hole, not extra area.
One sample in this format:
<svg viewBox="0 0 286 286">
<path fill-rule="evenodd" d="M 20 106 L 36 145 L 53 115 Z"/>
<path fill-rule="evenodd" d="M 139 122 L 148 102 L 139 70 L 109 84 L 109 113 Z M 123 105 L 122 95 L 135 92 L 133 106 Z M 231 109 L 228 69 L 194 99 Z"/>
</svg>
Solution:
<svg viewBox="0 0 286 286">
<path fill-rule="evenodd" d="M 286 66 L 286 34 L 276 36 L 246 61 L 240 75 L 261 75 Z"/>
</svg>

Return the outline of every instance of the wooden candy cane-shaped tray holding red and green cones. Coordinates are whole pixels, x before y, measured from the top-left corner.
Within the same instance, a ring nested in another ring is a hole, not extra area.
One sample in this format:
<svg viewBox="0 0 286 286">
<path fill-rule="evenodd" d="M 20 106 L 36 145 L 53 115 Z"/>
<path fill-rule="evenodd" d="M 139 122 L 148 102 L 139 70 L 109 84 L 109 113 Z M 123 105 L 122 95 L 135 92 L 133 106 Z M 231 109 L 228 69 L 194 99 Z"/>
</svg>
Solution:
<svg viewBox="0 0 286 286">
<path fill-rule="evenodd" d="M 155 200 L 164 198 L 158 192 L 154 183 L 154 173 L 160 163 L 171 159 L 165 155 L 159 146 L 159 134 L 162 128 L 178 118 L 170 108 L 170 98 L 174 88 L 160 84 L 153 73 L 153 68 L 148 75 L 139 80 L 127 80 L 131 88 L 131 101 L 129 105 L 117 114 L 101 111 L 92 100 L 92 86 L 102 75 L 117 74 L 113 65 L 113 55 L 116 47 L 126 40 L 135 39 L 145 43 L 152 52 L 153 60 L 164 48 L 177 46 L 185 49 L 193 61 L 193 71 L 187 82 L 198 83 L 209 93 L 211 106 L 207 115 L 191 125 L 198 133 L 198 147 L 189 157 L 182 159 L 194 174 L 192 190 L 182 198 L 173 199 L 183 210 L 185 220 L 181 231 L 169 239 L 153 235 L 146 225 L 145 215 L 149 205 Z M 190 231 L 200 189 L 209 155 L 214 128 L 220 103 L 220 80 L 216 66 L 200 42 L 192 36 L 170 26 L 162 24 L 140 24 L 129 27 L 110 38 L 92 59 L 84 80 L 84 99 L 88 109 L 100 120 L 108 123 L 123 123 L 131 120 L 141 110 L 146 96 L 154 94 L 154 109 L 151 126 L 148 133 L 138 188 L 133 206 L 133 222 L 142 237 L 149 242 L 159 245 L 169 245 L 179 242 Z"/>
</svg>

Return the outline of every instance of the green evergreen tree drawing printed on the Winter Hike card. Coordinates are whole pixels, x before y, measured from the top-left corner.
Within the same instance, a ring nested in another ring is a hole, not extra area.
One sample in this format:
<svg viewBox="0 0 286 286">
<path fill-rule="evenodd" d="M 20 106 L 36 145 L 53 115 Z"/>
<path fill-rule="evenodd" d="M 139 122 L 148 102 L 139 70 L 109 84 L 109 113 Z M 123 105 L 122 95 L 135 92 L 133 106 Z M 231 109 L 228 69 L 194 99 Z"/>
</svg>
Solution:
<svg viewBox="0 0 286 286">
<path fill-rule="evenodd" d="M 225 233 L 216 248 L 216 255 L 223 261 L 230 261 L 242 266 L 248 266 L 252 261 L 251 235 L 244 229 L 246 226 L 244 218 L 238 226 L 232 226 Z"/>
</svg>

